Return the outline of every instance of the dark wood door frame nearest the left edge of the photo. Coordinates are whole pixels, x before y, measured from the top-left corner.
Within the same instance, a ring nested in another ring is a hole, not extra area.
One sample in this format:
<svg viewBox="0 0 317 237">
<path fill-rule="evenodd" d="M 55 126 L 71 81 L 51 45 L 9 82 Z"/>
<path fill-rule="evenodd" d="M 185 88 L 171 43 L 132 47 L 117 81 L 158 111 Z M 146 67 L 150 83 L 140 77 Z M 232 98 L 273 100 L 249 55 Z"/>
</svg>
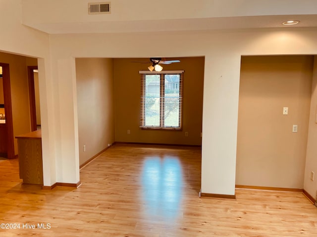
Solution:
<svg viewBox="0 0 317 237">
<path fill-rule="evenodd" d="M 3 97 L 5 111 L 5 125 L 7 130 L 7 158 L 13 159 L 14 155 L 14 135 L 12 121 L 12 101 L 11 101 L 11 84 L 10 68 L 7 63 L 0 63 L 2 67 Z"/>
</svg>

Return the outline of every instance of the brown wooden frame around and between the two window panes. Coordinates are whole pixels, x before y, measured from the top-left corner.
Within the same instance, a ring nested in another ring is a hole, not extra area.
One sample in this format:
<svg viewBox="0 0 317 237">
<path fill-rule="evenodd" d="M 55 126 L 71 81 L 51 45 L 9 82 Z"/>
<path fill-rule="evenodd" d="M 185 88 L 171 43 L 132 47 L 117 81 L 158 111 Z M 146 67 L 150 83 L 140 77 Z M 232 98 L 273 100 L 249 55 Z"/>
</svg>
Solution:
<svg viewBox="0 0 317 237">
<path fill-rule="evenodd" d="M 141 76 L 141 95 L 140 95 L 140 128 L 150 129 L 150 130 L 177 130 L 181 131 L 183 127 L 183 81 L 184 81 L 184 71 L 161 71 L 161 72 L 149 72 L 149 71 L 139 71 Z M 145 92 L 146 92 L 146 75 L 160 75 L 159 83 L 159 126 L 147 126 L 145 125 Z M 179 75 L 179 126 L 165 126 L 164 125 L 164 102 L 165 102 L 165 75 Z M 163 96 L 162 96 L 163 95 Z"/>
</svg>

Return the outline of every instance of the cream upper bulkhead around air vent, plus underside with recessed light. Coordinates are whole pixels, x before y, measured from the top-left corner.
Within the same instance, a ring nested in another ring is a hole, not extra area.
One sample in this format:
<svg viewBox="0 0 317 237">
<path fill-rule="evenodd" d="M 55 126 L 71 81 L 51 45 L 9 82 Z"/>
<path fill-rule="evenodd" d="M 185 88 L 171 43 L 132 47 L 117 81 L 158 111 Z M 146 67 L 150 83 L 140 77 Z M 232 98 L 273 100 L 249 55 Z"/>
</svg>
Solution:
<svg viewBox="0 0 317 237">
<path fill-rule="evenodd" d="M 110 14 L 89 15 L 95 1 L 21 0 L 22 24 L 49 34 L 317 27 L 317 0 L 110 0 Z"/>
</svg>

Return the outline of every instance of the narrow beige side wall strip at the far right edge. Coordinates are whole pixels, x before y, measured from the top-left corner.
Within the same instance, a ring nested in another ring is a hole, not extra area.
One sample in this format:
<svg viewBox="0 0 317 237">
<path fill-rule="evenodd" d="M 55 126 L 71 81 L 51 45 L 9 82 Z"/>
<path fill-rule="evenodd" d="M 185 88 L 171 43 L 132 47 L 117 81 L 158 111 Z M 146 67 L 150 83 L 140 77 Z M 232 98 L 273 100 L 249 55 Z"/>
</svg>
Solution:
<svg viewBox="0 0 317 237">
<path fill-rule="evenodd" d="M 312 197 L 316 198 L 317 188 L 317 56 L 314 60 L 314 73 L 312 84 L 312 100 L 310 108 L 306 167 L 305 167 L 305 182 L 304 189 Z M 311 180 L 311 171 L 315 172 L 314 180 Z"/>
</svg>

